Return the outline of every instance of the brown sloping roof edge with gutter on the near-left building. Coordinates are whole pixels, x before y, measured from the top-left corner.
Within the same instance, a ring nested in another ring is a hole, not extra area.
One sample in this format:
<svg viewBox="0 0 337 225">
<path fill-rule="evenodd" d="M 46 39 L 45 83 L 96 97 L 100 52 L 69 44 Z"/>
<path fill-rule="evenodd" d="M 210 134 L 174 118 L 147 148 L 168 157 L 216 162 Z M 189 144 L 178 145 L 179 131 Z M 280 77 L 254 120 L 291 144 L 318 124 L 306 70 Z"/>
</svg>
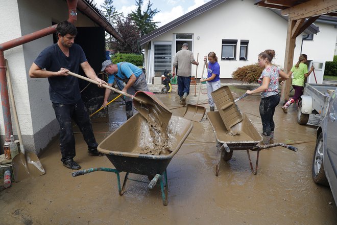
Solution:
<svg viewBox="0 0 337 225">
<path fill-rule="evenodd" d="M 94 22 L 104 27 L 105 31 L 111 34 L 114 38 L 123 41 L 122 35 L 114 29 L 114 27 L 106 19 L 102 10 L 96 7 L 97 4 L 92 4 L 92 2 L 92 0 L 78 0 L 77 8 Z"/>
</svg>

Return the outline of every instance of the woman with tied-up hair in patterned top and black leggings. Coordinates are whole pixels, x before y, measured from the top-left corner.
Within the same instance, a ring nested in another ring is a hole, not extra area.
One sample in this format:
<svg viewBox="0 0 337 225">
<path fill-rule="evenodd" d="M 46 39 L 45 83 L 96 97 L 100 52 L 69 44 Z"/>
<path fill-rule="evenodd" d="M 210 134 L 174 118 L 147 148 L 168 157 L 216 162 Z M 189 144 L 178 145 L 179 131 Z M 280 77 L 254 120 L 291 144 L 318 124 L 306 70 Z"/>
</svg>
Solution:
<svg viewBox="0 0 337 225">
<path fill-rule="evenodd" d="M 280 102 L 278 95 L 278 82 L 279 80 L 286 80 L 289 75 L 281 71 L 277 66 L 272 65 L 272 60 L 275 57 L 274 50 L 266 50 L 258 55 L 258 64 L 264 70 L 258 78 L 259 87 L 250 91 L 247 94 L 261 93 L 260 101 L 260 116 L 262 121 L 262 144 L 268 145 L 274 143 L 274 129 L 275 123 L 273 116 L 275 107 Z"/>
</svg>

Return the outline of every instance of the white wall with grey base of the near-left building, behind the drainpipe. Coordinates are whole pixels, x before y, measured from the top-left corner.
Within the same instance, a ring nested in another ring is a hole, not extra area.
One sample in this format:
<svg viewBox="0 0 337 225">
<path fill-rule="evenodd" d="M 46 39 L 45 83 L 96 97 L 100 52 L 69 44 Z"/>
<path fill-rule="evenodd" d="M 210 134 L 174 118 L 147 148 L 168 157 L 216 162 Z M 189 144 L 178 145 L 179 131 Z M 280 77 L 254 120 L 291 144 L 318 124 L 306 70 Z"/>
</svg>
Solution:
<svg viewBox="0 0 337 225">
<path fill-rule="evenodd" d="M 26 34 L 52 26 L 53 22 L 68 19 L 66 1 L 58 0 L 6 0 L 0 8 L 2 23 L 0 42 L 6 42 Z M 76 26 L 97 26 L 78 11 Z M 59 132 L 46 78 L 30 78 L 30 66 L 38 54 L 53 44 L 53 35 L 47 35 L 16 48 L 5 51 L 9 61 L 14 97 L 23 142 L 28 150 L 39 151 Z M 2 108 L 0 109 L 2 111 Z M 12 114 L 13 115 L 13 114 Z M 13 132 L 16 134 L 14 117 Z M 4 118 L 0 118 L 0 131 L 5 134 Z"/>
</svg>

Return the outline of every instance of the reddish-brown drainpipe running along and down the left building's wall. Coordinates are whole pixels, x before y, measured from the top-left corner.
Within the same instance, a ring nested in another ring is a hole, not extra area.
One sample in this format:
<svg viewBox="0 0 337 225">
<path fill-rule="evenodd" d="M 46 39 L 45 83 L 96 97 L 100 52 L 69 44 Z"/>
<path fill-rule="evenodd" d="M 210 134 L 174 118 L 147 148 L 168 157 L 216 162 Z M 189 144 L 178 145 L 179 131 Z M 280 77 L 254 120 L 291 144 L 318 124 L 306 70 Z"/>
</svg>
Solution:
<svg viewBox="0 0 337 225">
<path fill-rule="evenodd" d="M 74 23 L 77 19 L 77 6 L 78 0 L 67 0 L 67 5 L 69 9 L 69 18 L 68 21 Z M 30 41 L 39 39 L 41 37 L 53 34 L 56 31 L 56 26 L 44 28 L 42 30 L 36 31 L 31 34 L 4 42 L 0 44 L 0 94 L 1 94 L 1 103 L 3 108 L 3 117 L 4 117 L 4 126 L 5 126 L 5 139 L 10 141 L 10 136 L 13 134 L 12 119 L 11 119 L 11 110 L 9 105 L 8 89 L 7 89 L 7 79 L 6 79 L 6 64 L 5 64 L 5 55 L 4 51 L 12 49 L 14 47 L 20 46 L 21 44 L 28 43 Z"/>
</svg>

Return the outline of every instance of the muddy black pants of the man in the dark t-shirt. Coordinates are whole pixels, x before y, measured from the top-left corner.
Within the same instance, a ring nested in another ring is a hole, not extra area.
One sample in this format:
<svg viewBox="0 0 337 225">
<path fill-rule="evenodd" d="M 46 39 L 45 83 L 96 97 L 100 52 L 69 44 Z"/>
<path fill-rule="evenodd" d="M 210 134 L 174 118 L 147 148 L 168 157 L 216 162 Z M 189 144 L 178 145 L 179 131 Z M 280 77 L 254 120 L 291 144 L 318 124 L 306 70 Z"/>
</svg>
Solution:
<svg viewBox="0 0 337 225">
<path fill-rule="evenodd" d="M 85 109 L 82 99 L 74 104 L 53 103 L 53 108 L 56 119 L 60 125 L 60 149 L 62 162 L 68 159 L 73 159 L 76 155 L 75 137 L 73 127 L 71 125 L 71 119 L 73 119 L 79 126 L 88 148 L 97 148 L 98 143 L 93 135 L 89 114 Z"/>
</svg>

